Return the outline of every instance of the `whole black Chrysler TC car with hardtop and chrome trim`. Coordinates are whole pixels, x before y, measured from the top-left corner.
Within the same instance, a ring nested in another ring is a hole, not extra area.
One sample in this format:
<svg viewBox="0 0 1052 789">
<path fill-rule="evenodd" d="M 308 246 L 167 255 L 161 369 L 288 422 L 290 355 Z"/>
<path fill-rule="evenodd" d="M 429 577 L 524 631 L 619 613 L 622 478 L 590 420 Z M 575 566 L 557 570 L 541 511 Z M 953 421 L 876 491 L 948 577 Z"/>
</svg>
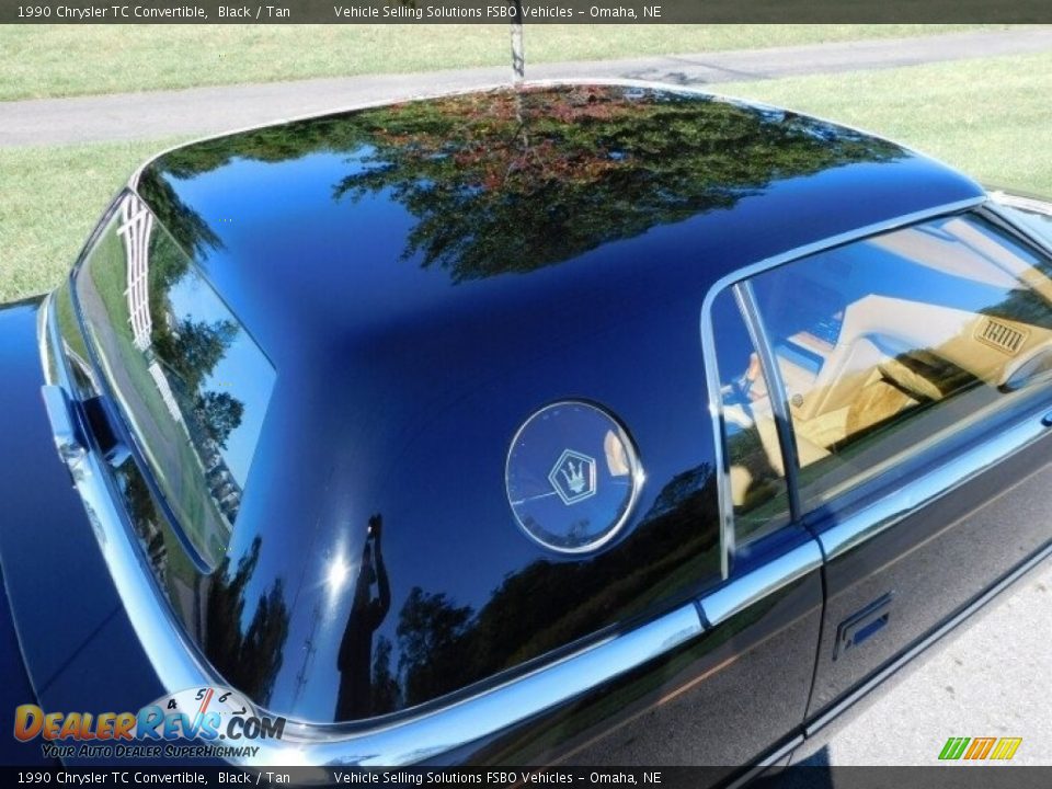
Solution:
<svg viewBox="0 0 1052 789">
<path fill-rule="evenodd" d="M 1052 549 L 1050 213 L 634 83 L 159 156 L 0 312 L 16 739 L 782 759 Z"/>
</svg>

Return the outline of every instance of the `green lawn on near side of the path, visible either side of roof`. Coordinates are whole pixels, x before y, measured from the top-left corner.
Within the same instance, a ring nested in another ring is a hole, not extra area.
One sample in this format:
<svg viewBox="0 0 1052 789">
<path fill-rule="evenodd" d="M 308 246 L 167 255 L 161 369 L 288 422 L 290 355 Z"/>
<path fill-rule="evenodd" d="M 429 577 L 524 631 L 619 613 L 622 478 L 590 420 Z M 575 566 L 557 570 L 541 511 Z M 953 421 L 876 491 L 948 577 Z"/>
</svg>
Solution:
<svg viewBox="0 0 1052 789">
<path fill-rule="evenodd" d="M 1052 54 L 714 85 L 857 125 L 991 184 L 1052 195 Z M 0 149 L 0 301 L 49 289 L 106 202 L 171 140 Z"/>
</svg>

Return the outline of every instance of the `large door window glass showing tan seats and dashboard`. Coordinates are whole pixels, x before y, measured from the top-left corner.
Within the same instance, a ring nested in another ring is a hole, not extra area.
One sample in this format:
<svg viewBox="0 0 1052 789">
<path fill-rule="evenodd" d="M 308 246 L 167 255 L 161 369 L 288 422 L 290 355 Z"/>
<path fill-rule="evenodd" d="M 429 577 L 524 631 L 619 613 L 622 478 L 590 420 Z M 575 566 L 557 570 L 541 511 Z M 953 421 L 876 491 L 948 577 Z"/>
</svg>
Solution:
<svg viewBox="0 0 1052 789">
<path fill-rule="evenodd" d="M 811 255 L 753 288 L 809 508 L 1052 370 L 1049 262 L 975 215 Z"/>
</svg>

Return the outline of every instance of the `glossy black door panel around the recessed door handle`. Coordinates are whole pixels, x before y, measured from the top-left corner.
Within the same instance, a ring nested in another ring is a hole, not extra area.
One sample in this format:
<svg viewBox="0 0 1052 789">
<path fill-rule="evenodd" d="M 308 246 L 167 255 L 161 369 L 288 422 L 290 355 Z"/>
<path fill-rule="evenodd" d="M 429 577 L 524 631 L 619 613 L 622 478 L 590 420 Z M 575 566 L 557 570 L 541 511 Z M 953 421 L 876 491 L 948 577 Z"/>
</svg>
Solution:
<svg viewBox="0 0 1052 789">
<path fill-rule="evenodd" d="M 1050 408 L 1047 389 L 1034 392 L 1000 424 L 984 424 L 977 435 L 962 436 L 957 446 L 945 447 L 945 457 L 963 450 L 969 441 L 973 445 L 988 441 L 1014 421 L 1039 422 Z M 903 468 L 897 479 L 884 480 L 883 489 L 870 495 L 894 495 L 905 480 L 930 470 L 931 458 L 925 457 L 924 464 L 927 469 L 916 464 Z M 830 710 L 1052 541 L 1047 494 L 1052 484 L 1050 465 L 1052 433 L 826 563 L 826 609 L 809 718 Z M 824 530 L 854 508 L 819 513 L 813 527 Z M 834 658 L 837 625 L 889 593 L 893 597 L 888 624 L 864 648 Z"/>
</svg>

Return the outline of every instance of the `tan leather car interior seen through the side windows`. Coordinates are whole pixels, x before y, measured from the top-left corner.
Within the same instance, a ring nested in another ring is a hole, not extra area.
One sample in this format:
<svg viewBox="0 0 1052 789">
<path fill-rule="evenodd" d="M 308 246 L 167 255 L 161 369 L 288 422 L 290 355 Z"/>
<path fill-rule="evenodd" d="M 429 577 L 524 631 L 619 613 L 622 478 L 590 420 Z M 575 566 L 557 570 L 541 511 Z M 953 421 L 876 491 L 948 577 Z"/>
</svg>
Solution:
<svg viewBox="0 0 1052 789">
<path fill-rule="evenodd" d="M 1019 364 L 1052 346 L 1052 331 L 996 319 L 1018 331 L 1018 347 L 1009 352 L 981 341 L 991 321 L 975 315 L 919 301 L 867 296 L 844 312 L 835 346 L 809 335 L 812 354 L 824 354 L 817 375 L 779 356 L 779 371 L 790 395 L 801 467 L 828 457 L 851 435 L 879 425 L 923 402 L 937 402 L 954 391 L 961 378 L 974 377 L 1000 386 Z M 919 351 L 917 348 L 921 348 Z M 933 348 L 933 350 L 928 350 Z M 796 397 L 794 397 L 796 396 Z M 766 472 L 754 459 L 731 467 L 734 503 L 744 505 L 770 476 L 784 477 L 781 447 L 767 387 L 761 376 L 748 409 L 730 405 L 724 418 L 752 431 L 765 456 Z M 752 491 L 752 493 L 750 492 Z"/>
</svg>

